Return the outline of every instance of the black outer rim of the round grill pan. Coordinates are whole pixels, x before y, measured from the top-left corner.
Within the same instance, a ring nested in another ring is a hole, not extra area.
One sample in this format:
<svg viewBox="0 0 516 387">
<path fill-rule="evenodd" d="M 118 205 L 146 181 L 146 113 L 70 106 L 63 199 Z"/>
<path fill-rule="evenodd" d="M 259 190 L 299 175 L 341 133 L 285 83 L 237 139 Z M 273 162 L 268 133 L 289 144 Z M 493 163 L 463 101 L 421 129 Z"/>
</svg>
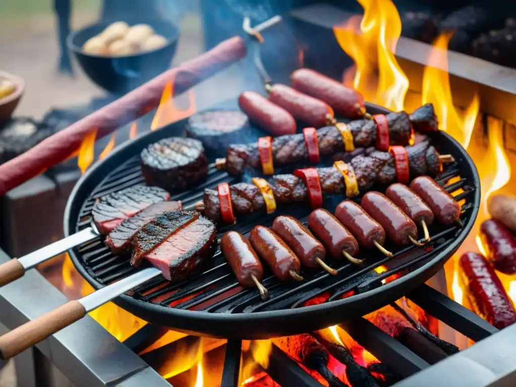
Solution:
<svg viewBox="0 0 516 387">
<path fill-rule="evenodd" d="M 372 114 L 387 114 L 389 112 L 384 108 L 371 104 L 367 104 L 367 110 Z M 111 152 L 108 157 L 90 168 L 77 182 L 67 202 L 64 217 L 65 235 L 68 236 L 77 231 L 77 219 L 80 210 L 85 201 L 92 196 L 94 189 L 92 187 L 98 187 L 106 174 L 112 172 L 136 154 L 139 154 L 147 144 L 164 137 L 183 135 L 186 122 L 187 119 L 175 122 L 155 132 L 142 133 L 119 149 Z M 456 235 L 455 240 L 440 249 L 426 264 L 410 271 L 401 278 L 376 288 L 368 289 L 365 287 L 363 293 L 344 299 L 301 308 L 264 312 L 209 313 L 205 311 L 189 311 L 164 307 L 135 299 L 130 295 L 122 295 L 115 299 L 114 302 L 121 308 L 151 324 L 166 326 L 189 334 L 244 340 L 322 329 L 344 320 L 362 316 L 393 302 L 437 273 L 471 231 L 480 205 L 480 181 L 475 165 L 469 155 L 455 139 L 446 133 L 439 132 L 432 134 L 431 137 L 433 137 L 433 143 L 436 144 L 441 153 L 451 153 L 455 157 L 460 167 L 461 177 L 465 178 L 469 186 L 473 188 L 468 197 L 468 202 L 471 205 L 467 211 L 471 213 L 464 223 L 464 227 Z M 104 286 L 90 275 L 82 264 L 82 254 L 78 253 L 77 249 L 70 250 L 69 254 L 76 269 L 94 288 L 99 289 Z M 426 259 L 429 259 L 429 257 Z M 379 263 L 375 267 L 378 265 Z M 396 271 L 398 270 L 396 269 Z M 382 274 L 383 276 L 377 276 L 375 281 L 378 282 L 385 278 L 389 275 L 389 272 Z"/>
</svg>

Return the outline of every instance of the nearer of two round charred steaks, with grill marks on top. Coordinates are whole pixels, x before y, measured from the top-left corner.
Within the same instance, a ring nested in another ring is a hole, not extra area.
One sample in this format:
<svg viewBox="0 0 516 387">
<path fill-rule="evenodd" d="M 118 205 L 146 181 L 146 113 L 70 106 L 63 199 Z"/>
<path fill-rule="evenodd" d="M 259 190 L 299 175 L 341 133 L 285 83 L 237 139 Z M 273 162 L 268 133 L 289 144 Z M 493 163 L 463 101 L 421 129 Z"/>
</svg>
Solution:
<svg viewBox="0 0 516 387">
<path fill-rule="evenodd" d="M 208 161 L 201 141 L 170 137 L 141 151 L 141 171 L 149 185 L 183 190 L 206 178 Z"/>
</svg>

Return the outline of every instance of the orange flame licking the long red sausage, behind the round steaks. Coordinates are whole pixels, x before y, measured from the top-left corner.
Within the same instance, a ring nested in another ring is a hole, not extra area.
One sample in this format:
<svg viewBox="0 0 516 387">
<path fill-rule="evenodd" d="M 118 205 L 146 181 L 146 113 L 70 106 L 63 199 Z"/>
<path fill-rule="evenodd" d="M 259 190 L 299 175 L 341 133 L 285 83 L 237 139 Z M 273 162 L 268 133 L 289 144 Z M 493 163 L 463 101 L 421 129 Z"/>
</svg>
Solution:
<svg viewBox="0 0 516 387">
<path fill-rule="evenodd" d="M 183 118 L 189 117 L 195 113 L 196 101 L 193 90 L 190 89 L 187 92 L 188 108 L 186 110 L 182 110 L 175 105 L 173 96 L 174 92 L 172 80 L 172 82 L 168 82 L 163 89 L 156 114 L 152 119 L 151 131 L 155 131 L 156 129 L 166 126 L 172 122 L 182 120 Z"/>
</svg>

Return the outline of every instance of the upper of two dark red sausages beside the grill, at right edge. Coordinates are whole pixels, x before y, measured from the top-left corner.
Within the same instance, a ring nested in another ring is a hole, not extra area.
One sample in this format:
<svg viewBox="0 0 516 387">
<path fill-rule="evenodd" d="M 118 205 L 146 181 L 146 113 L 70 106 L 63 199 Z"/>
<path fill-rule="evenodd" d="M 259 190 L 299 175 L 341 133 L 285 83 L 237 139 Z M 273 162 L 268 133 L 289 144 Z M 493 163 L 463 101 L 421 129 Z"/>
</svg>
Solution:
<svg viewBox="0 0 516 387">
<path fill-rule="evenodd" d="M 480 224 L 480 240 L 487 260 L 506 274 L 516 273 L 516 239 L 505 225 L 496 219 Z"/>
</svg>

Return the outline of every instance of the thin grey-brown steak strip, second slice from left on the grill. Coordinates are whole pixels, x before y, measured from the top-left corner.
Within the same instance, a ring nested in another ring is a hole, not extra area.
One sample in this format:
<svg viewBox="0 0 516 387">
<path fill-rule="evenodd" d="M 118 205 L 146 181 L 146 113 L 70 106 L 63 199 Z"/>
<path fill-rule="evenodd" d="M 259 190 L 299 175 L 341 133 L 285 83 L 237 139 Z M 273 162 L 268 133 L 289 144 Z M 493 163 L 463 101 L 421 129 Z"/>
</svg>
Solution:
<svg viewBox="0 0 516 387">
<path fill-rule="evenodd" d="M 182 209 L 181 202 L 175 201 L 151 204 L 138 214 L 125 219 L 115 230 L 111 231 L 106 237 L 106 245 L 116 254 L 127 252 L 131 249 L 133 236 L 156 216 Z"/>
</svg>

